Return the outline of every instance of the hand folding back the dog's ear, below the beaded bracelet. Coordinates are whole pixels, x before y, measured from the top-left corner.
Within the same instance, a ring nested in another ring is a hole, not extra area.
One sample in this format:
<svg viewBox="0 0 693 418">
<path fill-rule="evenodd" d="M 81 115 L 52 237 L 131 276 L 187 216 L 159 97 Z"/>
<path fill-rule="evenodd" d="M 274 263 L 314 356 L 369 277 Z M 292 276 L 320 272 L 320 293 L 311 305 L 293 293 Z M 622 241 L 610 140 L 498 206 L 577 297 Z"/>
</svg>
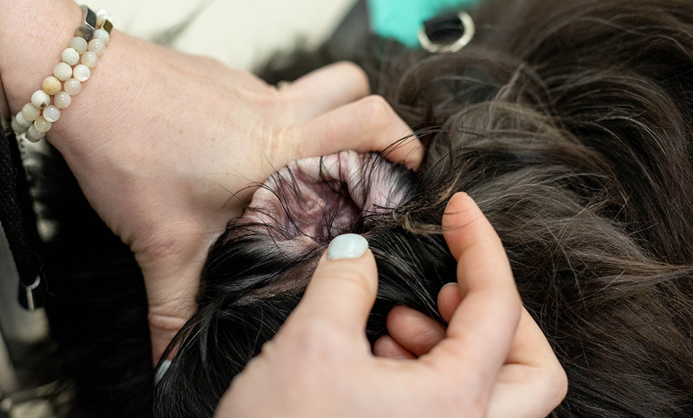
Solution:
<svg viewBox="0 0 693 418">
<path fill-rule="evenodd" d="M 368 96 L 353 64 L 334 64 L 278 91 L 245 71 L 145 47 L 147 57 L 161 55 L 150 65 L 166 72 L 133 92 L 129 100 L 143 102 L 141 109 L 123 104 L 112 125 L 100 128 L 114 136 L 95 129 L 81 144 L 49 139 L 137 257 L 156 360 L 195 309 L 209 244 L 259 183 L 293 159 L 383 150 L 412 131 L 382 98 Z M 416 167 L 422 150 L 414 137 L 387 156 Z"/>
</svg>

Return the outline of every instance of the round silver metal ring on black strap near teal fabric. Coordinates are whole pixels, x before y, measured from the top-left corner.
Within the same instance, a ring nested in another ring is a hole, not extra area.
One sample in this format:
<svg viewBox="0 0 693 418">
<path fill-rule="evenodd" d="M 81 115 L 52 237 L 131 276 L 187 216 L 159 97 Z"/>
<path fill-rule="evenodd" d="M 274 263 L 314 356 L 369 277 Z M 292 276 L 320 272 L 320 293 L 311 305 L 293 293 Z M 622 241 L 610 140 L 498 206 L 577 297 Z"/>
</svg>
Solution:
<svg viewBox="0 0 693 418">
<path fill-rule="evenodd" d="M 430 53 L 459 51 L 474 37 L 475 26 L 467 12 L 452 12 L 423 22 L 419 44 Z"/>
</svg>

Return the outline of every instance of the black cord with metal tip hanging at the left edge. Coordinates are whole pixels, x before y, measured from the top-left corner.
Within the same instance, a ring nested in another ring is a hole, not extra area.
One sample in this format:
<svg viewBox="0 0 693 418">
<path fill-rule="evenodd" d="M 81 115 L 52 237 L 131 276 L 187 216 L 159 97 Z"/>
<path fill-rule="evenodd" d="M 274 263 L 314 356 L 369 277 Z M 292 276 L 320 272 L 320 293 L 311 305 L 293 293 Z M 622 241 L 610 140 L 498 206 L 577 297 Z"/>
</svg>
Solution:
<svg viewBox="0 0 693 418">
<path fill-rule="evenodd" d="M 19 145 L 10 127 L 0 141 L 0 221 L 19 273 L 19 303 L 26 309 L 44 304 L 42 262 L 35 253 L 39 243 L 29 185 Z"/>
</svg>

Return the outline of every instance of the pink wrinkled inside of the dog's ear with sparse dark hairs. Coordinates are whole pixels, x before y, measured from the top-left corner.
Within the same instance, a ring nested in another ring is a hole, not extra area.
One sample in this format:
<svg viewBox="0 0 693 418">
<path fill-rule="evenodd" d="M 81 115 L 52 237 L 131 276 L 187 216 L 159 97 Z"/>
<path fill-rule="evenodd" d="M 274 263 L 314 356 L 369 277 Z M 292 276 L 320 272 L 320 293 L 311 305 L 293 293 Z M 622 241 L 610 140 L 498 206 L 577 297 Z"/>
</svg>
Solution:
<svg viewBox="0 0 693 418">
<path fill-rule="evenodd" d="M 365 215 L 389 212 L 405 199 L 402 166 L 378 154 L 343 151 L 290 163 L 253 195 L 245 222 L 265 224 L 274 239 L 328 242 L 357 232 Z"/>
</svg>

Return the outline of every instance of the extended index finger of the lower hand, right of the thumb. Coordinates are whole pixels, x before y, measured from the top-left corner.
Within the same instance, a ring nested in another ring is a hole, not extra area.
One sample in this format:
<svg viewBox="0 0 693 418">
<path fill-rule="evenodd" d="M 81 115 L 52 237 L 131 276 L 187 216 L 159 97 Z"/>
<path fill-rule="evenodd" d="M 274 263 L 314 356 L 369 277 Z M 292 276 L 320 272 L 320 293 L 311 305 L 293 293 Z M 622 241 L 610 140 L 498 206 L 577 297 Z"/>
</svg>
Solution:
<svg viewBox="0 0 693 418">
<path fill-rule="evenodd" d="M 520 320 L 520 297 L 500 238 L 468 194 L 450 199 L 443 230 L 457 260 L 462 302 L 447 337 L 432 350 L 432 360 L 453 373 L 459 369 L 451 365 L 463 367 L 466 375 L 477 370 L 480 383 L 490 390 Z"/>
</svg>

